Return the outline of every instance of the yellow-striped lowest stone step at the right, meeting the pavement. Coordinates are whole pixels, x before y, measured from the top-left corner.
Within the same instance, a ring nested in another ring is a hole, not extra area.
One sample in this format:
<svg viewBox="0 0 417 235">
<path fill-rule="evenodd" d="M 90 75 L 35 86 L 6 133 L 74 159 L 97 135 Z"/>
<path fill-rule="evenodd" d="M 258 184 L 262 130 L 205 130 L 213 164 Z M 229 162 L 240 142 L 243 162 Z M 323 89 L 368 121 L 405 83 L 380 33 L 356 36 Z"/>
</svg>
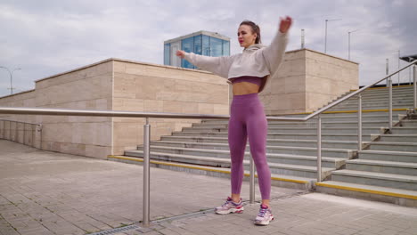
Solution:
<svg viewBox="0 0 417 235">
<path fill-rule="evenodd" d="M 316 191 L 341 197 L 372 199 L 406 207 L 417 207 L 417 191 L 399 190 L 352 182 L 316 182 Z"/>
</svg>

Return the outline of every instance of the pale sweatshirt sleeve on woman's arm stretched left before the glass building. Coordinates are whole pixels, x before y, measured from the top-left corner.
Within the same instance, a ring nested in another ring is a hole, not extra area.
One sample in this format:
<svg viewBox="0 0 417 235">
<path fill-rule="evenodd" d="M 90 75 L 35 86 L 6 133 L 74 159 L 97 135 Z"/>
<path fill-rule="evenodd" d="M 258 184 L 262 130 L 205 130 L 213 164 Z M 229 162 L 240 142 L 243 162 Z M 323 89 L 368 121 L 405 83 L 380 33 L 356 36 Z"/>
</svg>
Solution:
<svg viewBox="0 0 417 235">
<path fill-rule="evenodd" d="M 185 53 L 184 59 L 200 69 L 208 70 L 220 77 L 228 78 L 233 56 L 211 57 L 195 53 Z"/>
</svg>

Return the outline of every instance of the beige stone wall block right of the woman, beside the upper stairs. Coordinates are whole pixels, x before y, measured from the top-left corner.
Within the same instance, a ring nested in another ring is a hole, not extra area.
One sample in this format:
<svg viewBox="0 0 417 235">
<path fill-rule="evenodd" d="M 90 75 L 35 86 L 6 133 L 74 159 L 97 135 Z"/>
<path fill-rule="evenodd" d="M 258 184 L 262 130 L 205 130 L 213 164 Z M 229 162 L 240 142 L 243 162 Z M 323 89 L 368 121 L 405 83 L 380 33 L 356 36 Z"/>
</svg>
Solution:
<svg viewBox="0 0 417 235">
<path fill-rule="evenodd" d="M 269 79 L 259 94 L 266 115 L 311 112 L 358 88 L 358 64 L 302 49 L 285 53 Z"/>
</svg>

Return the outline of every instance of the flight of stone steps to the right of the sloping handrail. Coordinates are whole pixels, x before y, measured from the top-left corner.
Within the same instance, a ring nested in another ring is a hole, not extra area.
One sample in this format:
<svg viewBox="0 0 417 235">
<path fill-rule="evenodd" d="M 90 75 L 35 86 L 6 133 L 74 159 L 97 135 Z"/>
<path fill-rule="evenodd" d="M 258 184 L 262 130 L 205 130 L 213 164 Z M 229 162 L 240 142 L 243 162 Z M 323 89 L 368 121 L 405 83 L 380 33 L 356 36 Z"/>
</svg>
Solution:
<svg viewBox="0 0 417 235">
<path fill-rule="evenodd" d="M 333 171 L 318 191 L 417 207 L 417 120 L 403 119 Z"/>
</svg>

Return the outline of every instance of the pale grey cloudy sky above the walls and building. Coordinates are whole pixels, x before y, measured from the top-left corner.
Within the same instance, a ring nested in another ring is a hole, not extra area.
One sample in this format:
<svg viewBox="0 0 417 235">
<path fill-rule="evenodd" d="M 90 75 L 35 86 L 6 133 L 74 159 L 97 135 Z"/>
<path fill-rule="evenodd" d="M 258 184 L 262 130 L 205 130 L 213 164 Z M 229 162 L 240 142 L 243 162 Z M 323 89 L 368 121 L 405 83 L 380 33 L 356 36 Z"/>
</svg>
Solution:
<svg viewBox="0 0 417 235">
<path fill-rule="evenodd" d="M 268 45 L 280 16 L 294 19 L 287 50 L 306 47 L 360 63 L 360 85 L 398 68 L 400 54 L 417 54 L 415 0 L 0 0 L 0 66 L 13 73 L 15 92 L 34 81 L 110 57 L 163 64 L 163 42 L 199 30 L 231 37 L 231 53 L 241 53 L 236 38 L 242 20 L 253 20 Z M 341 19 L 341 20 L 337 20 Z M 400 66 L 405 66 L 404 61 Z M 409 70 L 400 79 L 409 81 Z M 397 82 L 397 77 L 394 77 Z M 10 93 L 10 76 L 0 69 L 0 96 Z"/>
</svg>

